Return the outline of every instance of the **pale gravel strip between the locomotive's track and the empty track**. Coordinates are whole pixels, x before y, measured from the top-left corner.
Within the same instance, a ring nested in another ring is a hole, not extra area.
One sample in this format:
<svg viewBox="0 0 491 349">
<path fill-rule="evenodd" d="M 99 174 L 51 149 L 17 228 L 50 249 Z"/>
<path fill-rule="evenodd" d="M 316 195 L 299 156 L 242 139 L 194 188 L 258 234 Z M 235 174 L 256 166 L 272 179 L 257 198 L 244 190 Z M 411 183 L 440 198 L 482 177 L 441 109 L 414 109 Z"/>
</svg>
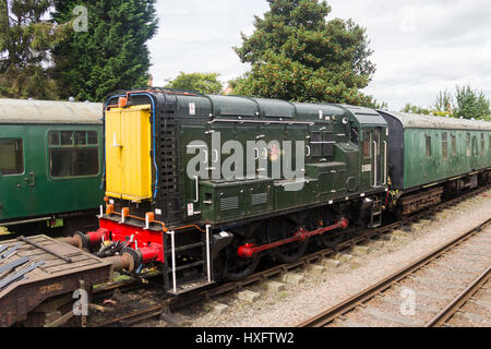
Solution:
<svg viewBox="0 0 491 349">
<path fill-rule="evenodd" d="M 254 303 L 239 301 L 235 294 L 219 297 L 216 301 L 230 305 L 219 315 L 203 305 L 192 306 L 182 314 L 192 327 L 296 326 L 490 217 L 491 191 L 436 214 L 429 225 L 414 229 L 409 238 L 386 242 L 370 254 L 357 256 L 354 262 L 343 263 L 339 268 L 328 269 L 322 275 L 304 273 L 306 281 L 299 286 L 287 285 L 285 291 L 274 294 L 261 291 L 261 298 Z M 260 287 L 248 289 L 259 290 Z"/>
</svg>

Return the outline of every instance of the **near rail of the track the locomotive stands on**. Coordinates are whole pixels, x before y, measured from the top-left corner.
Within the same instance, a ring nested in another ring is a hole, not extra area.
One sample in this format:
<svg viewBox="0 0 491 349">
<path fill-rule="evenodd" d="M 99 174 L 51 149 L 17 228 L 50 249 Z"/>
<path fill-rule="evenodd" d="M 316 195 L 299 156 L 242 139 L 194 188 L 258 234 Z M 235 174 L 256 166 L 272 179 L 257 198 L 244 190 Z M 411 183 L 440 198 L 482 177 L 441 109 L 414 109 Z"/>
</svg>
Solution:
<svg viewBox="0 0 491 349">
<path fill-rule="evenodd" d="M 418 213 L 411 217 L 406 217 L 403 220 L 388 224 L 388 225 L 378 228 L 378 229 L 366 230 L 362 233 L 339 243 L 335 249 L 323 249 L 321 251 L 310 253 L 310 254 L 301 257 L 297 262 L 289 263 L 289 264 L 282 264 L 282 265 L 277 265 L 277 266 L 258 272 L 254 275 L 252 275 L 243 280 L 218 285 L 214 288 L 202 290 L 194 294 L 185 294 L 185 296 L 181 296 L 179 298 L 168 298 L 158 304 L 151 305 L 145 309 L 140 309 L 130 314 L 116 316 L 116 317 L 112 317 L 112 318 L 107 320 L 101 323 L 96 323 L 96 324 L 93 323 L 93 324 L 89 324 L 89 326 L 94 326 L 94 327 L 131 326 L 135 323 L 154 318 L 163 313 L 172 313 L 180 309 L 183 309 L 184 306 L 195 304 L 199 302 L 203 302 L 203 301 L 207 301 L 214 297 L 218 297 L 218 296 L 225 294 L 227 292 L 243 290 L 248 286 L 252 286 L 254 284 L 268 280 L 273 277 L 277 277 L 278 275 L 288 273 L 288 272 L 299 268 L 301 266 L 320 262 L 328 256 L 335 255 L 342 251 L 345 251 L 351 246 L 358 245 L 364 241 L 368 241 L 371 239 L 376 239 L 378 237 L 382 237 L 384 234 L 391 233 L 392 231 L 397 230 L 397 229 L 403 229 L 404 227 L 409 227 L 412 222 L 419 221 L 424 218 L 429 218 L 434 213 L 441 212 L 441 210 L 448 208 L 459 202 L 463 202 L 471 196 L 478 195 L 488 189 L 489 189 L 489 186 L 481 188 L 479 190 L 469 192 L 467 194 L 464 194 L 462 196 L 458 196 L 456 198 L 453 198 L 451 201 L 442 203 L 431 209 Z M 130 284 L 128 286 L 130 286 L 131 288 L 135 288 L 134 284 Z M 117 288 L 117 286 L 112 287 L 112 289 L 115 289 L 115 288 Z"/>
</svg>

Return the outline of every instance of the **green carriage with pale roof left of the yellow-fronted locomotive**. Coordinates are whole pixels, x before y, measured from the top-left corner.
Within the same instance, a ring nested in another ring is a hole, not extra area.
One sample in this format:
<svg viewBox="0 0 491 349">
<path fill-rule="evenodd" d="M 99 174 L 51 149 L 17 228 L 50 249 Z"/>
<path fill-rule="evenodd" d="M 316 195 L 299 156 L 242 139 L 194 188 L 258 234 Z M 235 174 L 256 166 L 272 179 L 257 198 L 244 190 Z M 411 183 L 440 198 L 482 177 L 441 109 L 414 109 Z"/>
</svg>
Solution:
<svg viewBox="0 0 491 349">
<path fill-rule="evenodd" d="M 0 99 L 0 226 L 93 227 L 103 203 L 101 104 Z"/>
</svg>

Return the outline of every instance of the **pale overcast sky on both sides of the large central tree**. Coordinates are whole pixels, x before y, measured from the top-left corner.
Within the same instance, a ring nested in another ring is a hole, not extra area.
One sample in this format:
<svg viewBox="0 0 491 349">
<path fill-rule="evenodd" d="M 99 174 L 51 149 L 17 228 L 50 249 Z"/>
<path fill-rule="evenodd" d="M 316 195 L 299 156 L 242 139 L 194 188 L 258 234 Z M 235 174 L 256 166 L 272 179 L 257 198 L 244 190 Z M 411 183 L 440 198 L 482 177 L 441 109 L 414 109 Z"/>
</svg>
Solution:
<svg viewBox="0 0 491 349">
<path fill-rule="evenodd" d="M 400 109 L 428 107 L 439 91 L 470 84 L 491 96 L 489 0 L 330 0 L 334 17 L 367 27 L 376 64 L 363 92 Z M 249 70 L 232 50 L 266 0 L 158 0 L 159 32 L 148 43 L 154 85 L 183 71 L 217 72 L 225 83 Z"/>
</svg>

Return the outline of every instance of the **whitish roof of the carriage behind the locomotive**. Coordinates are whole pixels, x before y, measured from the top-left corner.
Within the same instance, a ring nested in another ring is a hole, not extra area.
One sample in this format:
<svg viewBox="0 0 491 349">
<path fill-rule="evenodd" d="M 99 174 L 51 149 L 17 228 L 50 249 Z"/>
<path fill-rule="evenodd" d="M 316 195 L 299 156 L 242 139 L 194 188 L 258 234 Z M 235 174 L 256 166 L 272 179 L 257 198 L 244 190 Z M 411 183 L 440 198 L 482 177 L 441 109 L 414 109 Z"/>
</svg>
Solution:
<svg viewBox="0 0 491 349">
<path fill-rule="evenodd" d="M 405 129 L 442 129 L 442 130 L 487 130 L 491 131 L 491 122 L 448 117 L 423 116 L 418 113 L 385 111 L 396 118 Z"/>
</svg>

